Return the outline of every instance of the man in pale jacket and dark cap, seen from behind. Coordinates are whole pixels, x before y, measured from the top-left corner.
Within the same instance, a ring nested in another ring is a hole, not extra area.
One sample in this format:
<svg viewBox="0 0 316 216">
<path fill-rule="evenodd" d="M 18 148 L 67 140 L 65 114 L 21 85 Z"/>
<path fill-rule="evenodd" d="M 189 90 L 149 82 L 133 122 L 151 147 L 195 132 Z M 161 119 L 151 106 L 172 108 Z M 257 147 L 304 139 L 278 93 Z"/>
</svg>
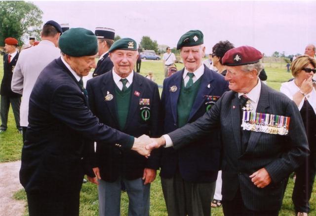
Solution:
<svg viewBox="0 0 316 216">
<path fill-rule="evenodd" d="M 58 40 L 62 33 L 58 23 L 50 20 L 46 22 L 40 32 L 41 41 L 39 45 L 23 50 L 13 71 L 11 89 L 15 93 L 22 94 L 20 107 L 20 125 L 23 130 L 23 140 L 29 115 L 29 99 L 34 84 L 44 67 L 60 57 Z"/>
</svg>

